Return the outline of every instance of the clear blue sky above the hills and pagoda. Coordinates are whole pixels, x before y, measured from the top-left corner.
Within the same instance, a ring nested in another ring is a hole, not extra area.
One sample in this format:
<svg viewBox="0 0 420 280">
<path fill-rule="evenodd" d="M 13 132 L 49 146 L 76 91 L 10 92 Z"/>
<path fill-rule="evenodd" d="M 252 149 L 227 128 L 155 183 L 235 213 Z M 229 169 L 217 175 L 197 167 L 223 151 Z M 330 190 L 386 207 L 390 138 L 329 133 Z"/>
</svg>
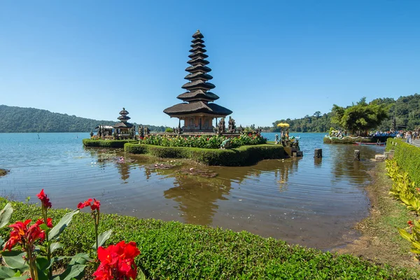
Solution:
<svg viewBox="0 0 420 280">
<path fill-rule="evenodd" d="M 0 104 L 178 124 L 191 35 L 237 125 L 420 93 L 420 1 L 0 1 Z"/>
</svg>

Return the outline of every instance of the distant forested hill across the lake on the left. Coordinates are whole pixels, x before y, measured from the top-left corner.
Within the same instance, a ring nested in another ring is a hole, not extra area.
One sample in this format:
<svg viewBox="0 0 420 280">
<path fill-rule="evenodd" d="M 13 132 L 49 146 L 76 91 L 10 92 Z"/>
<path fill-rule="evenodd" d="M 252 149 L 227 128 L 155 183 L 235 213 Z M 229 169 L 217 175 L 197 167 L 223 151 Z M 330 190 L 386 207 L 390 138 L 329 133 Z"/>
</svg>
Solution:
<svg viewBox="0 0 420 280">
<path fill-rule="evenodd" d="M 4 132 L 91 132 L 97 125 L 115 125 L 117 121 L 79 118 L 47 110 L 0 105 L 0 133 Z M 164 126 L 148 125 L 151 131 Z"/>
</svg>

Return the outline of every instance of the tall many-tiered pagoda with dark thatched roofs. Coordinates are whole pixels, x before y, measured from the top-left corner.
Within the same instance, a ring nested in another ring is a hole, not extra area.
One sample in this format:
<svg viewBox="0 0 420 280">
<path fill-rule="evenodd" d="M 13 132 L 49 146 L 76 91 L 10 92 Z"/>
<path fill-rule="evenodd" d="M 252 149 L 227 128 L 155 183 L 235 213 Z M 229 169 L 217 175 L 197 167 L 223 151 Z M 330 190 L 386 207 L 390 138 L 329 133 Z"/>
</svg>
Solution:
<svg viewBox="0 0 420 280">
<path fill-rule="evenodd" d="M 214 118 L 225 118 L 232 113 L 229 109 L 219 106 L 214 100 L 219 97 L 213 92 L 208 90 L 214 89 L 215 85 L 209 83 L 213 77 L 208 73 L 211 71 L 206 60 L 208 55 L 204 48 L 204 36 L 197 30 L 193 34 L 193 44 L 191 45 L 192 52 L 188 57 L 189 66 L 186 71 L 189 74 L 186 76 L 186 80 L 190 80 L 188 83 L 182 86 L 184 90 L 183 94 L 180 94 L 178 99 L 181 99 L 184 103 L 176 104 L 164 110 L 171 118 L 179 118 L 184 121 L 183 132 L 213 132 L 213 120 Z M 188 102 L 188 103 L 187 103 Z M 217 124 L 215 123 L 215 126 Z"/>
</svg>

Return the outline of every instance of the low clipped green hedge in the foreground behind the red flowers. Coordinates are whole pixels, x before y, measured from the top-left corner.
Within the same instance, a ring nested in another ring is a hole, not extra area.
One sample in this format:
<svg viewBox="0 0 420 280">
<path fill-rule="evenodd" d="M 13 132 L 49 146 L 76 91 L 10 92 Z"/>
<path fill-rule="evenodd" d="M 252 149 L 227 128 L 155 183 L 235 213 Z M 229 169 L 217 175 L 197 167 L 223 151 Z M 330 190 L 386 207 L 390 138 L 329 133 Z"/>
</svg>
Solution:
<svg viewBox="0 0 420 280">
<path fill-rule="evenodd" d="M 3 208 L 6 200 L 0 198 Z M 12 202 L 11 221 L 38 218 L 36 205 Z M 50 210 L 57 222 L 66 211 Z M 87 211 L 85 211 L 87 212 Z M 137 265 L 148 279 L 414 279 L 405 270 L 379 266 L 352 255 L 333 255 L 292 246 L 281 240 L 249 232 L 233 232 L 201 225 L 184 225 L 102 215 L 99 232 L 113 230 L 108 244 L 135 241 L 141 251 Z M 8 238 L 10 228 L 0 230 Z M 92 253 L 94 226 L 89 213 L 77 214 L 62 235 L 59 255 Z"/>
</svg>

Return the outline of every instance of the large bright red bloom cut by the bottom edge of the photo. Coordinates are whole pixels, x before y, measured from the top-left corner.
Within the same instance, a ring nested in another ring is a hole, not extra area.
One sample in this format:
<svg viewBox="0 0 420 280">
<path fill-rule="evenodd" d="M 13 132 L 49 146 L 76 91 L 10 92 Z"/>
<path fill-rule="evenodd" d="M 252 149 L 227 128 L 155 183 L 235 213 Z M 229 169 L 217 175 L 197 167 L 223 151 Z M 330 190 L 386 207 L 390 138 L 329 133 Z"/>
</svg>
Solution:
<svg viewBox="0 0 420 280">
<path fill-rule="evenodd" d="M 120 241 L 108 248 L 98 248 L 98 258 L 101 261 L 94 276 L 95 280 L 111 279 L 135 279 L 137 277 L 137 266 L 134 258 L 140 254 L 136 243 L 131 241 L 125 243 Z"/>
</svg>

